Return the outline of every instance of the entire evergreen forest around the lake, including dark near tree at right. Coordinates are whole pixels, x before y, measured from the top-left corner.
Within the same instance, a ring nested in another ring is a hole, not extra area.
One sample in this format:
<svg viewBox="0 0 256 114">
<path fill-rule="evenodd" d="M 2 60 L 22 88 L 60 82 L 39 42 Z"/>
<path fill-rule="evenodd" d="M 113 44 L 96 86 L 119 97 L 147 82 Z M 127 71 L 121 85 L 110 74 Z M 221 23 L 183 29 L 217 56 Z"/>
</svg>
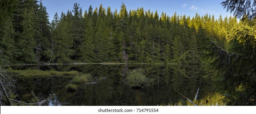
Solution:
<svg viewBox="0 0 256 114">
<path fill-rule="evenodd" d="M 222 2 L 230 17 L 167 15 L 124 3 L 120 11 L 102 4 L 83 11 L 74 3 L 51 22 L 42 1 L 0 5 L 0 66 L 210 64 L 228 105 L 256 105 L 256 0 Z"/>
</svg>

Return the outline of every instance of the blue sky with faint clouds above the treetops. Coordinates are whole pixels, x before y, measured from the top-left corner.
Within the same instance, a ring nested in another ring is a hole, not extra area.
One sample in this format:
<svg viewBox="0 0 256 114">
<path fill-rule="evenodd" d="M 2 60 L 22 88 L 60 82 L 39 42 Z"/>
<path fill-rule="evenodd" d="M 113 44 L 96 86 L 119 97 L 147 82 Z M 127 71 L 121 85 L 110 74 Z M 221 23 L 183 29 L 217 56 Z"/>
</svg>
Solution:
<svg viewBox="0 0 256 114">
<path fill-rule="evenodd" d="M 121 3 L 126 5 L 126 9 L 137 9 L 138 7 L 143 7 L 144 10 L 150 9 L 161 15 L 162 11 L 166 12 L 167 15 L 173 15 L 175 12 L 178 15 L 190 15 L 194 16 L 196 13 L 199 15 L 215 15 L 218 18 L 221 14 L 222 17 L 226 15 L 229 17 L 231 14 L 226 12 L 220 4 L 224 0 L 42 0 L 43 5 L 46 6 L 47 12 L 49 14 L 49 21 L 53 20 L 54 14 L 57 12 L 58 15 L 63 11 L 66 13 L 73 9 L 73 4 L 77 2 L 82 7 L 83 12 L 88 10 L 91 5 L 93 9 L 99 7 L 100 4 L 107 9 L 111 7 L 114 11 L 117 9 L 119 11 Z"/>
</svg>

